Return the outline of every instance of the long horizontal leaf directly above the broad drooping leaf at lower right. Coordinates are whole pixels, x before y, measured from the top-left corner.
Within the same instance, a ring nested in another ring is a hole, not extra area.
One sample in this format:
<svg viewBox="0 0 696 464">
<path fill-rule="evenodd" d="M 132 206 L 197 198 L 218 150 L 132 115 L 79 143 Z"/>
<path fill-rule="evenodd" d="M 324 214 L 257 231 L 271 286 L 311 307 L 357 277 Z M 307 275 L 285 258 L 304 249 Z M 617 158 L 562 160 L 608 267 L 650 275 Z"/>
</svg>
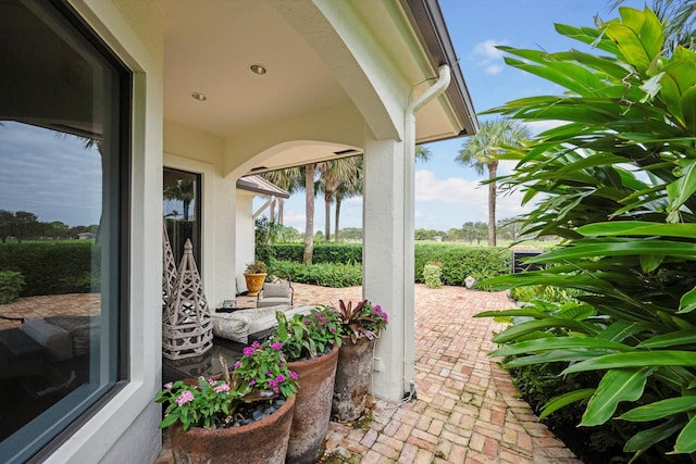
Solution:
<svg viewBox="0 0 696 464">
<path fill-rule="evenodd" d="M 573 364 L 562 374 L 643 366 L 696 366 L 696 352 L 662 350 L 607 354 Z"/>
</svg>

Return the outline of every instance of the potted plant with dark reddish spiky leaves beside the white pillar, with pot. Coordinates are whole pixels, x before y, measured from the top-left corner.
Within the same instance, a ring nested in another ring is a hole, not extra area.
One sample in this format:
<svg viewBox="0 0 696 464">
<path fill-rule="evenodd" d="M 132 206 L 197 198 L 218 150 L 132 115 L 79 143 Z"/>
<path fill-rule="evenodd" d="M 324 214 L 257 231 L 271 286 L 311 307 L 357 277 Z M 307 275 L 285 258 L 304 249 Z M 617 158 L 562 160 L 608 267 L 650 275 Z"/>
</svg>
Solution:
<svg viewBox="0 0 696 464">
<path fill-rule="evenodd" d="M 372 375 L 374 347 L 387 326 L 387 314 L 368 300 L 353 308 L 338 301 L 343 328 L 343 344 L 338 352 L 332 414 L 338 421 L 355 421 L 364 410 Z"/>
</svg>

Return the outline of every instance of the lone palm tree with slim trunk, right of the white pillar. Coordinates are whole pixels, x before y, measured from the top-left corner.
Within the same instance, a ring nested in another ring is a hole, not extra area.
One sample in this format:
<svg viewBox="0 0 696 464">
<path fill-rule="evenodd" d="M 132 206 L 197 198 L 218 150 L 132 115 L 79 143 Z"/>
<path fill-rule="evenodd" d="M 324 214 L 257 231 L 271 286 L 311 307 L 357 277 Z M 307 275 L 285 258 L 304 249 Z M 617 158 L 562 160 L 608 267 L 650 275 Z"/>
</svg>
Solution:
<svg viewBox="0 0 696 464">
<path fill-rule="evenodd" d="M 458 163 L 476 170 L 480 175 L 488 170 L 488 246 L 496 246 L 496 183 L 498 156 L 507 147 L 519 147 L 530 138 L 529 129 L 513 120 L 495 118 L 481 124 L 476 135 L 464 140 Z"/>
</svg>

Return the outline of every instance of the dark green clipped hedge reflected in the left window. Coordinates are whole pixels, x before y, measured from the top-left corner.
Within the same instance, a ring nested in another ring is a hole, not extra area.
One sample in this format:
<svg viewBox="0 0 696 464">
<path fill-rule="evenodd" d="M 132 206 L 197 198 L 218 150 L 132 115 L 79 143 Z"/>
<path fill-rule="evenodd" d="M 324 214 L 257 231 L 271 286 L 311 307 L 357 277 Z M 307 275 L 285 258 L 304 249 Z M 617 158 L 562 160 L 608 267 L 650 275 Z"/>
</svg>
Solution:
<svg viewBox="0 0 696 464">
<path fill-rule="evenodd" d="M 26 286 L 21 297 L 98 291 L 99 246 L 85 242 L 0 244 L 0 271 L 21 272 Z"/>
</svg>

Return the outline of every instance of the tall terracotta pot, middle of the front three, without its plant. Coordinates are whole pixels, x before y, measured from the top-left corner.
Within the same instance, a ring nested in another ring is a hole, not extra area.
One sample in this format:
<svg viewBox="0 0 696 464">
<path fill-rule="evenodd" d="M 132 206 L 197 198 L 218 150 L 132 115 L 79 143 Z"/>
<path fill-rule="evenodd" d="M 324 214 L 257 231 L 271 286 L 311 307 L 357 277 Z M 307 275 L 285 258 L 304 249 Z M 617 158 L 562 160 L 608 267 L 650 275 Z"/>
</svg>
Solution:
<svg viewBox="0 0 696 464">
<path fill-rule="evenodd" d="M 338 362 L 338 347 L 307 361 L 288 363 L 297 373 L 299 389 L 295 401 L 286 463 L 310 464 L 322 455 L 322 444 L 331 422 L 332 397 Z"/>
</svg>

